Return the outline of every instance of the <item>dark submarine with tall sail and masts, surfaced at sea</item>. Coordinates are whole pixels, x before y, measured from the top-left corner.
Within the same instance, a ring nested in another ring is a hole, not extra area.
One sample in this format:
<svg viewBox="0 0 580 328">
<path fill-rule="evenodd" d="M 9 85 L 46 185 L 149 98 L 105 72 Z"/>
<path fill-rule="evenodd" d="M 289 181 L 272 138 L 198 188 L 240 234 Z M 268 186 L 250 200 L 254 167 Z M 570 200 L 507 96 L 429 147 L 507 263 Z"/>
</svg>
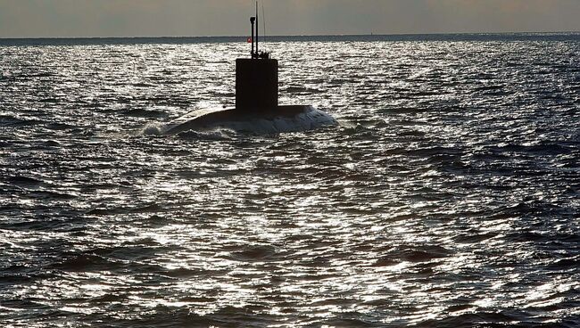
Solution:
<svg viewBox="0 0 580 328">
<path fill-rule="evenodd" d="M 250 18 L 250 58 L 236 59 L 236 107 L 191 111 L 170 121 L 162 134 L 226 128 L 242 134 L 272 135 L 338 125 L 332 116 L 311 105 L 278 104 L 278 60 L 260 51 L 258 20 L 256 4 L 256 15 Z"/>
</svg>

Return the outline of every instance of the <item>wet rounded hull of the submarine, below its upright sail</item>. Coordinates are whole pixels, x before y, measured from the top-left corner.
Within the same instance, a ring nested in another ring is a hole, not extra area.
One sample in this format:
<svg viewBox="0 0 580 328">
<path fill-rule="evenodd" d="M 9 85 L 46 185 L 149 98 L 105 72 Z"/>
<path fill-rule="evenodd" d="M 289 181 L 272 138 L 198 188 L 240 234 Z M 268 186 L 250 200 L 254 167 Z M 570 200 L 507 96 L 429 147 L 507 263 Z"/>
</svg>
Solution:
<svg viewBox="0 0 580 328">
<path fill-rule="evenodd" d="M 214 109 L 192 111 L 172 121 L 164 134 L 227 128 L 238 133 L 271 135 L 335 127 L 336 119 L 312 106 L 278 106 L 269 111 Z"/>
</svg>

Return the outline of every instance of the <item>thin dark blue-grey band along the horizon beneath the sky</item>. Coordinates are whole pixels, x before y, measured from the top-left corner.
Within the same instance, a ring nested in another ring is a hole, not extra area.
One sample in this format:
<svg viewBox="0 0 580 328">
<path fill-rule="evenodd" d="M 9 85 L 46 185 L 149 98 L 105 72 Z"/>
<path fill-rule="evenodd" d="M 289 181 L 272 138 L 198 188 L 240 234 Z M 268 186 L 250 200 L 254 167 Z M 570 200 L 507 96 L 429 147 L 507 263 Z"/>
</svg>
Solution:
<svg viewBox="0 0 580 328">
<path fill-rule="evenodd" d="M 203 44 L 246 42 L 247 36 L 230 37 L 0 37 L 0 45 L 139 45 Z M 580 32 L 504 32 L 504 33 L 433 33 L 268 36 L 268 42 L 304 41 L 580 41 Z"/>
</svg>

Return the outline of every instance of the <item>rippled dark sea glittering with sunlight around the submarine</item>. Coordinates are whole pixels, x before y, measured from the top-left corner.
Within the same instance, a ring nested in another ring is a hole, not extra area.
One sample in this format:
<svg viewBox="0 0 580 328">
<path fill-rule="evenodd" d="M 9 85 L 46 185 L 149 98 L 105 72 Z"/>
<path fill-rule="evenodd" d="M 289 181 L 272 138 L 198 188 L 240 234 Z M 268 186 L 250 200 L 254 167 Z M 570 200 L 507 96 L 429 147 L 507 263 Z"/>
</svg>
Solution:
<svg viewBox="0 0 580 328">
<path fill-rule="evenodd" d="M 271 40 L 0 40 L 0 326 L 580 326 L 580 35 Z"/>
</svg>

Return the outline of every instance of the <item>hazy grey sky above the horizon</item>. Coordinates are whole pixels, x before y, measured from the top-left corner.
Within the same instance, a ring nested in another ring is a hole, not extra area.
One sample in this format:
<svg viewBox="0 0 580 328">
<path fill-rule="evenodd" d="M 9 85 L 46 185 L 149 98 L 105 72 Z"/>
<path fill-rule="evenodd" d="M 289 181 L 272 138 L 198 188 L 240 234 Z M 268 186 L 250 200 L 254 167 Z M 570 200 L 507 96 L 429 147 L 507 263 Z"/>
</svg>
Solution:
<svg viewBox="0 0 580 328">
<path fill-rule="evenodd" d="M 245 36 L 253 0 L 0 0 L 0 37 Z M 262 0 L 269 35 L 580 31 L 580 0 Z"/>
</svg>

